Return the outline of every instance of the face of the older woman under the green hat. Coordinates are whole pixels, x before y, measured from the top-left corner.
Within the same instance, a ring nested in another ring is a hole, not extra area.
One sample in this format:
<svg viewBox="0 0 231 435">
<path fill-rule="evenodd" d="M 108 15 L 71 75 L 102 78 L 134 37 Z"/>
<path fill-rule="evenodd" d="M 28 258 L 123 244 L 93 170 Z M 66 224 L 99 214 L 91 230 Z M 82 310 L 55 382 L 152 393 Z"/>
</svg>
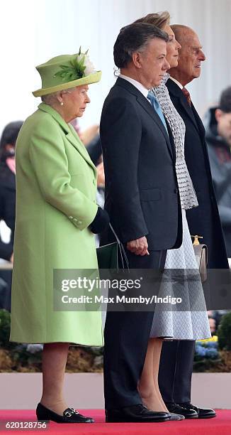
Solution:
<svg viewBox="0 0 231 435">
<path fill-rule="evenodd" d="M 72 90 L 72 92 L 62 95 L 62 109 L 67 122 L 72 121 L 74 118 L 83 116 L 86 104 L 91 101 L 87 95 L 88 90 L 88 85 L 81 85 L 77 86 Z"/>
</svg>

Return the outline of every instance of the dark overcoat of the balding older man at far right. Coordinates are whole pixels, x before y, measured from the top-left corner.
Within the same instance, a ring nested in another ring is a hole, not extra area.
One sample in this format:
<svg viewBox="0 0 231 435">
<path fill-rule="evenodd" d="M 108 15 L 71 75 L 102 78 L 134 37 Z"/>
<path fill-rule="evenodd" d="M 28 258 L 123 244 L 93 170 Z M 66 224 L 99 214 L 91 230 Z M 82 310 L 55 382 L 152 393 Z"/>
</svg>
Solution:
<svg viewBox="0 0 231 435">
<path fill-rule="evenodd" d="M 186 164 L 199 203 L 197 208 L 186 212 L 188 227 L 191 235 L 203 236 L 203 243 L 208 245 L 208 267 L 226 269 L 227 254 L 205 143 L 205 129 L 195 107 L 188 105 L 180 87 L 171 79 L 167 80 L 167 87 L 171 101 L 186 125 Z"/>
</svg>

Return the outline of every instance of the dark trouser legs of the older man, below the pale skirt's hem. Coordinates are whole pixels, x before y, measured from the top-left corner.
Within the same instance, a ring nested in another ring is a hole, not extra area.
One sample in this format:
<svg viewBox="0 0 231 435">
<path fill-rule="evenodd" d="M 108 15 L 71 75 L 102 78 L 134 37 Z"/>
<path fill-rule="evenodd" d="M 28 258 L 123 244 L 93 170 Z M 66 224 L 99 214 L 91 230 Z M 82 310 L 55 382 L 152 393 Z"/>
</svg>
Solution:
<svg viewBox="0 0 231 435">
<path fill-rule="evenodd" d="M 165 340 L 159 363 L 159 390 L 164 402 L 191 402 L 195 341 Z"/>
</svg>

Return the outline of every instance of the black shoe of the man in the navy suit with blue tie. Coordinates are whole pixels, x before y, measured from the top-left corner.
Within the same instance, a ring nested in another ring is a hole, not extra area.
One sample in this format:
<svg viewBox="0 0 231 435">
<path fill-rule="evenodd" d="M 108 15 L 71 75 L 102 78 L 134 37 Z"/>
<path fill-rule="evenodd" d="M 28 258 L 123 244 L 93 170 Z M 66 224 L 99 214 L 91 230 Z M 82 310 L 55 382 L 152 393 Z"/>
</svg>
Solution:
<svg viewBox="0 0 231 435">
<path fill-rule="evenodd" d="M 169 414 L 166 412 L 150 411 L 143 404 L 119 409 L 106 409 L 105 414 L 106 423 L 154 423 L 169 421 Z"/>
</svg>

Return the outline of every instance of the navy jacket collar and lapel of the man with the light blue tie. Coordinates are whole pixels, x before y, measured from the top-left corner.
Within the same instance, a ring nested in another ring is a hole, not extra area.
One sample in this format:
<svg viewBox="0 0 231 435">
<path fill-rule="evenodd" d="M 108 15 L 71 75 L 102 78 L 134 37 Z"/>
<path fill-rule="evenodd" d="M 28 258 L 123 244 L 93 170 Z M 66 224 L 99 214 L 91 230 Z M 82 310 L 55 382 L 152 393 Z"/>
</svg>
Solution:
<svg viewBox="0 0 231 435">
<path fill-rule="evenodd" d="M 116 80 L 115 86 L 121 86 L 124 89 L 128 90 L 128 92 L 130 92 L 131 94 L 135 95 L 137 102 L 142 106 L 143 109 L 145 109 L 145 111 L 150 115 L 150 117 L 152 117 L 154 122 L 158 125 L 159 129 L 161 129 L 161 131 L 164 134 L 164 137 L 167 141 L 167 146 L 168 146 L 169 152 L 171 154 L 171 158 L 173 158 L 173 153 L 172 153 L 171 144 L 169 141 L 169 136 L 167 134 L 167 131 L 166 131 L 161 119 L 159 118 L 159 115 L 157 115 L 157 112 L 155 112 L 155 110 L 153 109 L 152 105 L 147 100 L 147 98 L 145 98 L 145 96 L 142 95 L 142 92 L 140 92 L 137 89 L 137 87 L 133 86 L 130 82 L 128 82 L 128 80 L 124 80 L 124 79 L 118 77 L 118 79 Z"/>
</svg>

